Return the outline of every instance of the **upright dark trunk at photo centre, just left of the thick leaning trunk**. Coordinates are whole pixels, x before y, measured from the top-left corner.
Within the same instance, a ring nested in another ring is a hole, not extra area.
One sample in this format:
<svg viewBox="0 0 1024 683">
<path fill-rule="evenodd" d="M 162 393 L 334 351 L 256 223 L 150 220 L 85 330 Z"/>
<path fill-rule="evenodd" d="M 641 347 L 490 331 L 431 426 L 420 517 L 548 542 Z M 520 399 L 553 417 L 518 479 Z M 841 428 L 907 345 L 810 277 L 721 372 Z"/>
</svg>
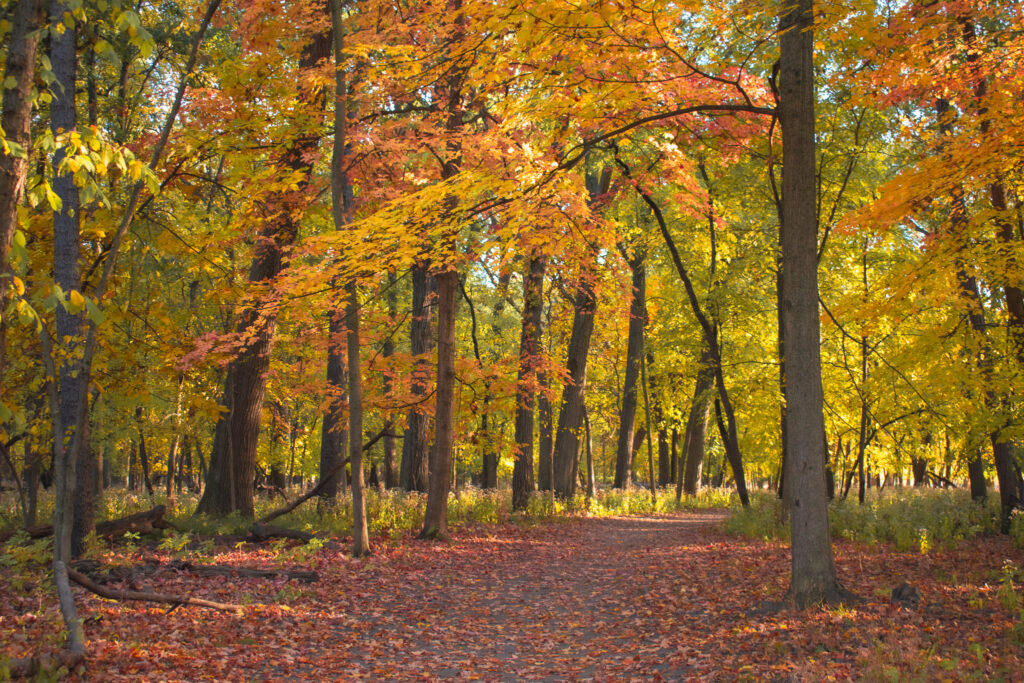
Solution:
<svg viewBox="0 0 1024 683">
<path fill-rule="evenodd" d="M 534 493 L 534 378 L 541 353 L 544 303 L 544 257 L 532 256 L 523 273 L 522 330 L 519 335 L 519 376 L 516 383 L 515 463 L 512 466 L 512 508 L 522 510 Z"/>
</svg>

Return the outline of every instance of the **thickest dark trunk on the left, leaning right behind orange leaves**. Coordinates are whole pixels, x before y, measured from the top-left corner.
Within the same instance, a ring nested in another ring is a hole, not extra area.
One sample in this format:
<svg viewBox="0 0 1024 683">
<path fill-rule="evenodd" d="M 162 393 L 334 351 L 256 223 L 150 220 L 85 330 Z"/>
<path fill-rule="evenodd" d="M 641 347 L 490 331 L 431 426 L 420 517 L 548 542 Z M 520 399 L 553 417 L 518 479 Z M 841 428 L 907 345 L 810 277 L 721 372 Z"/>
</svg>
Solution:
<svg viewBox="0 0 1024 683">
<path fill-rule="evenodd" d="M 331 36 L 328 33 L 313 36 L 299 57 L 300 77 L 311 73 L 330 55 Z M 323 106 L 322 90 L 303 87 L 300 98 L 307 104 Z M 196 510 L 199 514 L 254 515 L 256 446 L 280 303 L 272 293 L 272 284 L 284 269 L 285 249 L 298 234 L 299 215 L 308 202 L 304 189 L 312 170 L 310 159 L 318 145 L 317 135 L 301 134 L 279 161 L 284 172 L 300 173 L 302 180 L 298 189 L 272 195 L 265 204 L 265 222 L 249 269 L 249 282 L 260 292 L 239 317 L 238 334 L 249 342 L 227 366 L 222 398 L 227 410 L 214 431 L 206 490 Z"/>
</svg>

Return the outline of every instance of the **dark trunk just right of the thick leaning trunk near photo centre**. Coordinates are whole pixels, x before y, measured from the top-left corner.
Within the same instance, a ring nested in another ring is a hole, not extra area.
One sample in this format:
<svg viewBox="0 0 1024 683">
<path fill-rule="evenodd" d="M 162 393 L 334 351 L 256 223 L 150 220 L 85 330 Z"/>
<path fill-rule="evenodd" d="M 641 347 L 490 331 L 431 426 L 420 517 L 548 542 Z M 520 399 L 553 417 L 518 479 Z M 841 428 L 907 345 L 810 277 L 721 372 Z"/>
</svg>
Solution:
<svg viewBox="0 0 1024 683">
<path fill-rule="evenodd" d="M 644 254 L 638 252 L 630 262 L 632 296 L 630 326 L 626 342 L 626 377 L 623 380 L 623 404 L 618 412 L 618 446 L 615 450 L 615 488 L 628 488 L 633 478 L 633 432 L 636 429 L 640 364 L 643 355 L 644 328 L 647 325 L 647 271 Z"/>
</svg>

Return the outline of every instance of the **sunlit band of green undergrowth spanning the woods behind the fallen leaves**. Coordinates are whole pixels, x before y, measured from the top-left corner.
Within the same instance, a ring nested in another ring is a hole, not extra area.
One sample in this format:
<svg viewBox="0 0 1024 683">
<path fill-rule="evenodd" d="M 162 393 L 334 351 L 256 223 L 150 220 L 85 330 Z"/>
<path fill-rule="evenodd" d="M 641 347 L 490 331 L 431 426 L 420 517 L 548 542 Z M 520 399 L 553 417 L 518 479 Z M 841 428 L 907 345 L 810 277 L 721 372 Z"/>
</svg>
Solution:
<svg viewBox="0 0 1024 683">
<path fill-rule="evenodd" d="M 166 505 L 168 518 L 182 533 L 211 537 L 248 532 L 251 522 L 238 515 L 216 519 L 193 515 L 197 503 L 198 498 L 188 494 L 168 499 L 164 494 L 150 497 L 138 492 L 110 489 L 97 502 L 96 519 L 115 519 L 154 505 Z M 257 497 L 256 516 L 281 505 L 280 498 Z M 422 494 L 368 488 L 370 532 L 388 538 L 415 533 L 423 525 L 425 506 L 426 497 Z M 41 492 L 39 519 L 48 519 L 52 508 L 52 495 Z M 508 488 L 484 490 L 470 486 L 450 496 L 449 523 L 458 529 L 479 524 L 529 524 L 580 514 L 610 516 L 708 508 L 731 510 L 725 523 L 730 533 L 764 540 L 788 539 L 790 528 L 782 517 L 781 501 L 773 494 L 755 492 L 751 505 L 742 508 L 735 493 L 727 488 L 703 488 L 696 496 L 683 497 L 678 502 L 670 487 L 659 489 L 653 502 L 650 493 L 639 487 L 599 489 L 591 499 L 578 494 L 569 500 L 538 492 L 530 497 L 525 510 L 513 512 Z M 828 517 L 834 538 L 862 543 L 887 542 L 900 551 L 928 552 L 938 544 L 950 545 L 997 532 L 998 498 L 989 496 L 985 503 L 979 504 L 965 490 L 873 489 L 868 492 L 864 505 L 859 505 L 856 499 L 835 501 L 829 506 Z M 18 525 L 20 518 L 13 497 L 0 501 L 0 519 L 8 528 Z M 334 503 L 309 501 L 274 523 L 322 536 L 345 537 L 352 526 L 350 500 L 343 496 Z M 1018 546 L 1024 546 L 1024 514 L 1014 516 L 1011 535 Z M 24 540 L 19 545 L 24 545 Z"/>
</svg>

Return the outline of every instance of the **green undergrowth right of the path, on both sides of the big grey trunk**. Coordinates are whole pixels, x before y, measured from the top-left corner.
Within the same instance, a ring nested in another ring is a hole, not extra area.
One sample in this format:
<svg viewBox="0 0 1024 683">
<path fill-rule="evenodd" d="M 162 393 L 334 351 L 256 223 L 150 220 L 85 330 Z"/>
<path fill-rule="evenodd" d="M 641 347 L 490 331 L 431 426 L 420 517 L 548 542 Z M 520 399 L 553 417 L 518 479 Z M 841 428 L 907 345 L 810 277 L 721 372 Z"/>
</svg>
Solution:
<svg viewBox="0 0 1024 683">
<path fill-rule="evenodd" d="M 937 544 L 998 532 L 998 497 L 976 503 L 966 490 L 885 488 L 869 492 L 864 504 L 855 498 L 828 506 L 833 538 L 861 543 L 892 543 L 899 551 L 927 553 Z M 1015 517 L 1013 533 L 1024 545 L 1024 517 Z M 755 539 L 788 539 L 782 502 L 768 493 L 756 493 L 746 508 L 735 506 L 726 530 Z"/>
</svg>

